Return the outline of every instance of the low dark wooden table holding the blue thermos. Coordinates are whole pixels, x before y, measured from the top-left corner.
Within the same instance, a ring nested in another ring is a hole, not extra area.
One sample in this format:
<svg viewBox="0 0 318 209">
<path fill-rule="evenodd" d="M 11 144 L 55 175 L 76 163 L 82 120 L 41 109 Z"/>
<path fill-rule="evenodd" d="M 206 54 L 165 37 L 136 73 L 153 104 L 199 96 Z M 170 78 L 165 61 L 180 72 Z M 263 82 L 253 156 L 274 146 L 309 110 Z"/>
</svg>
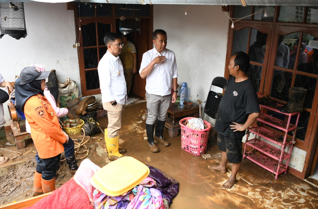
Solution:
<svg viewBox="0 0 318 209">
<path fill-rule="evenodd" d="M 148 116 L 148 111 L 146 112 L 146 119 Z M 168 128 L 168 133 L 171 138 L 178 136 L 179 130 L 181 129 L 179 121 L 185 117 L 199 117 L 199 105 L 193 104 L 190 109 L 185 108 L 180 103 L 171 104 L 168 113 L 166 123 L 164 127 Z"/>
</svg>

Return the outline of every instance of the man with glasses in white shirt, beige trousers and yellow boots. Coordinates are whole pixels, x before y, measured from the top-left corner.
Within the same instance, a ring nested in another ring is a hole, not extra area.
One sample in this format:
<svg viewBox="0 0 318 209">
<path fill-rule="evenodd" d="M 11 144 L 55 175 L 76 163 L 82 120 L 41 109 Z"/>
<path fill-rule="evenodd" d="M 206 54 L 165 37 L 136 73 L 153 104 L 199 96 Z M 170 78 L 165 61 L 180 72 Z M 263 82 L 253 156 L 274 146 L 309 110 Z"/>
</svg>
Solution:
<svg viewBox="0 0 318 209">
<path fill-rule="evenodd" d="M 123 156 L 119 153 L 118 131 L 121 129 L 121 117 L 127 101 L 126 81 L 119 54 L 123 43 L 121 36 L 108 32 L 104 37 L 107 52 L 98 63 L 100 92 L 103 108 L 107 110 L 108 127 L 105 129 L 105 142 L 109 160 L 117 160 Z"/>
</svg>

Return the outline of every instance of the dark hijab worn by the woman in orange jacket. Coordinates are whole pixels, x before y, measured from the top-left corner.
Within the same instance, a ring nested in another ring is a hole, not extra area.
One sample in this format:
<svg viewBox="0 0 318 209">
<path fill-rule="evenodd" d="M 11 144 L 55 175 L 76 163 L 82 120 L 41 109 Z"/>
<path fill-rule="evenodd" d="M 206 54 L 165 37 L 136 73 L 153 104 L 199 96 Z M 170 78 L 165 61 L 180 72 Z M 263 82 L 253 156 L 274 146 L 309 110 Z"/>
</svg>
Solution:
<svg viewBox="0 0 318 209">
<path fill-rule="evenodd" d="M 40 94 L 44 96 L 44 90 L 41 87 L 41 80 L 34 80 L 27 84 L 20 85 L 20 78 L 15 83 L 16 106 L 24 113 L 25 102 L 34 95 Z"/>
</svg>

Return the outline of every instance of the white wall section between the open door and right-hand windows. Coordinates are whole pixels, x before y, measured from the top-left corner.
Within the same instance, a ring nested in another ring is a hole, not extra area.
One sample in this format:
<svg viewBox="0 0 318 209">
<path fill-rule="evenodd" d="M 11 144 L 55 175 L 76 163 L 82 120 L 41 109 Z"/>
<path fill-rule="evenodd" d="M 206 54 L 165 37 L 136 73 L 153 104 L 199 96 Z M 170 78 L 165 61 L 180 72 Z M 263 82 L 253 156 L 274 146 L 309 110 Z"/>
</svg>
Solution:
<svg viewBox="0 0 318 209">
<path fill-rule="evenodd" d="M 229 19 L 220 5 L 154 5 L 154 29 L 168 35 L 176 54 L 178 84 L 188 83 L 190 101 L 205 100 L 216 76 L 224 76 Z M 212 88 L 222 92 L 220 88 Z M 179 88 L 180 90 L 180 88 Z"/>
</svg>

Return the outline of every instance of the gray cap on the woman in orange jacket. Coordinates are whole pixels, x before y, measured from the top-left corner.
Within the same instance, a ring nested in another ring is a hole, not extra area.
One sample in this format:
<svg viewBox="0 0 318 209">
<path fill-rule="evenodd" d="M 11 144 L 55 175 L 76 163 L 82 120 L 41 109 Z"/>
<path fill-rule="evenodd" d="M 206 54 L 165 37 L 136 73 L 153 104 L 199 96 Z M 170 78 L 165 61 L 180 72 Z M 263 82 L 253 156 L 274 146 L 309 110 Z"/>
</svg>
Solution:
<svg viewBox="0 0 318 209">
<path fill-rule="evenodd" d="M 34 80 L 42 80 L 49 77 L 49 71 L 40 71 L 36 67 L 26 67 L 20 73 L 20 84 L 31 83 Z"/>
</svg>

